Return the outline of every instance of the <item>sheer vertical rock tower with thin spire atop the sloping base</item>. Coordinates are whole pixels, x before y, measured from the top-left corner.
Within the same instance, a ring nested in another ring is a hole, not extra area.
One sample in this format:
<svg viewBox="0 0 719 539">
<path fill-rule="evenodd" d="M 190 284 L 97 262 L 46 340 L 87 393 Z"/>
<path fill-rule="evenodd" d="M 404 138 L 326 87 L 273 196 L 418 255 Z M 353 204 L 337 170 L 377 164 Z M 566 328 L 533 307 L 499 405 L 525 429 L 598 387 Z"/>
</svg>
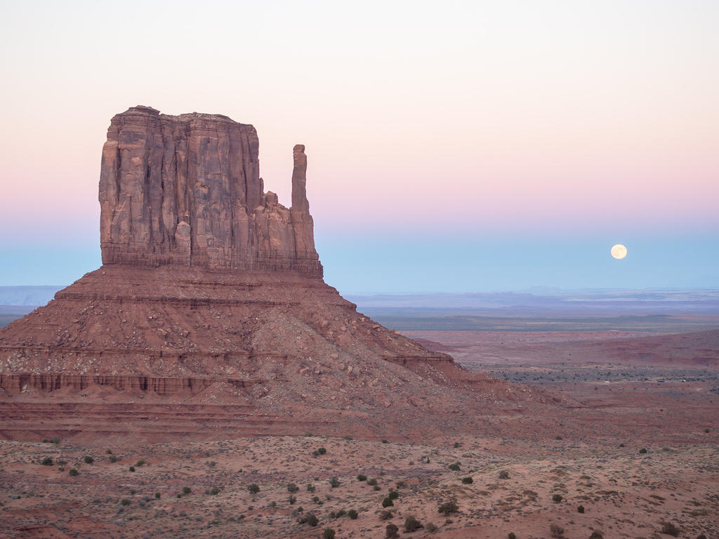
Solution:
<svg viewBox="0 0 719 539">
<path fill-rule="evenodd" d="M 294 148 L 292 207 L 264 193 L 255 128 L 137 106 L 111 121 L 100 175 L 104 264 L 294 270 L 322 277 Z"/>
</svg>

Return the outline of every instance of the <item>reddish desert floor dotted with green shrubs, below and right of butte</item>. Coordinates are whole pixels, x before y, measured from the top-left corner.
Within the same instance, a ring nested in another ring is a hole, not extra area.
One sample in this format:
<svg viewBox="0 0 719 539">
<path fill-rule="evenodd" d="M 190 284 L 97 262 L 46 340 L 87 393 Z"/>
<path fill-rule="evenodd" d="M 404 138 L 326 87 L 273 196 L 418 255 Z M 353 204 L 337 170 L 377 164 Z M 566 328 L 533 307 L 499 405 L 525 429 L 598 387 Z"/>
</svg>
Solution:
<svg viewBox="0 0 719 539">
<path fill-rule="evenodd" d="M 421 443 L 391 433 L 388 441 L 316 433 L 141 446 L 4 441 L 0 537 L 321 538 L 331 528 L 338 539 L 383 538 L 394 524 L 413 538 L 649 539 L 670 537 L 662 533 L 670 526 L 679 537 L 719 538 L 715 364 L 692 364 L 688 351 L 647 359 L 631 340 L 622 344 L 630 359 L 613 359 L 617 339 L 644 331 L 525 329 L 403 333 L 467 369 L 581 403 L 542 417 L 539 431 L 522 428 L 539 418 L 517 408 L 491 429 Z M 42 464 L 48 457 L 51 466 Z M 456 511 L 439 512 L 451 501 Z M 301 522 L 310 513 L 316 526 Z M 406 531 L 409 516 L 423 528 Z"/>
</svg>

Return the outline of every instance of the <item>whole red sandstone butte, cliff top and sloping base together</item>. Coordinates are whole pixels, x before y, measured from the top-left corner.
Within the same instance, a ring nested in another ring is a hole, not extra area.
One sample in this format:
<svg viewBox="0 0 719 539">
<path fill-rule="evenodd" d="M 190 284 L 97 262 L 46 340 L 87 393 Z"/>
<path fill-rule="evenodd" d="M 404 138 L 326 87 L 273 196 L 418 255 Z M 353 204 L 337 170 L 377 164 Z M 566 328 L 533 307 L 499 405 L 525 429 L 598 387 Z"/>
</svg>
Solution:
<svg viewBox="0 0 719 539">
<path fill-rule="evenodd" d="M 304 147 L 290 208 L 265 193 L 258 147 L 226 116 L 114 116 L 103 265 L 0 329 L 1 438 L 399 438 L 554 402 L 358 313 L 323 280 Z"/>
</svg>

